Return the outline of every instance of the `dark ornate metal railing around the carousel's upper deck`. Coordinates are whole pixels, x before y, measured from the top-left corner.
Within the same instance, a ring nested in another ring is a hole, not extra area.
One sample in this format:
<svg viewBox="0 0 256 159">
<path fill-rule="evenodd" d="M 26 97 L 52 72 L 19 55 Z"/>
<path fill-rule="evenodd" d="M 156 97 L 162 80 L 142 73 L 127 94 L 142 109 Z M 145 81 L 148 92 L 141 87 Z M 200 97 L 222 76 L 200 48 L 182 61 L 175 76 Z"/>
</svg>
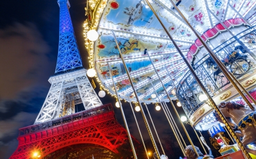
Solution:
<svg viewBox="0 0 256 159">
<path fill-rule="evenodd" d="M 248 28 L 236 35 L 243 45 L 240 45 L 232 37 L 213 49 L 217 57 L 237 79 L 243 79 L 256 72 L 255 27 Z M 230 86 L 230 81 L 208 54 L 195 63 L 193 68 L 212 97 Z M 199 100 L 200 94 L 203 94 L 203 91 L 191 72 L 188 71 L 177 84 L 176 90 L 176 96 L 188 117 L 191 117 L 204 104 Z"/>
</svg>

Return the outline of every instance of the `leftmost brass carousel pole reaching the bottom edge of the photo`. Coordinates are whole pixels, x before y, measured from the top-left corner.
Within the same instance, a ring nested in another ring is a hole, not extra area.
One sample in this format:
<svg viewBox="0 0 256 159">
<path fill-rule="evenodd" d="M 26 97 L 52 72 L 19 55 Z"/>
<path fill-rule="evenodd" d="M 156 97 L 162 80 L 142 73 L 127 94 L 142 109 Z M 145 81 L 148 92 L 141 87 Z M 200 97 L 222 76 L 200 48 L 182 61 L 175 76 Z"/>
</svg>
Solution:
<svg viewBox="0 0 256 159">
<path fill-rule="evenodd" d="M 108 63 L 108 67 L 109 67 L 109 63 Z M 126 122 L 125 113 L 123 112 L 122 103 L 121 103 L 121 101 L 119 99 L 119 94 L 117 92 L 117 87 L 115 86 L 115 83 L 114 83 L 114 80 L 113 80 L 112 71 L 110 70 L 110 67 L 109 67 L 109 71 L 110 71 L 109 75 L 110 75 L 110 77 L 112 79 L 113 86 L 114 86 L 114 89 L 115 89 L 115 94 L 117 95 L 117 99 L 118 99 L 118 102 L 119 102 L 119 105 L 120 105 L 120 110 L 121 110 L 121 114 L 122 114 L 122 117 L 123 117 L 123 122 L 125 122 L 125 128 L 126 128 L 126 131 L 127 131 L 128 139 L 129 139 L 130 144 L 131 144 L 131 149 L 133 150 L 133 156 L 134 156 L 134 158 L 137 159 L 137 155 L 136 155 L 135 148 L 134 148 L 134 145 L 133 145 L 133 140 L 131 139 L 131 134 L 130 134 L 130 131 L 129 131 L 128 124 Z"/>
</svg>

